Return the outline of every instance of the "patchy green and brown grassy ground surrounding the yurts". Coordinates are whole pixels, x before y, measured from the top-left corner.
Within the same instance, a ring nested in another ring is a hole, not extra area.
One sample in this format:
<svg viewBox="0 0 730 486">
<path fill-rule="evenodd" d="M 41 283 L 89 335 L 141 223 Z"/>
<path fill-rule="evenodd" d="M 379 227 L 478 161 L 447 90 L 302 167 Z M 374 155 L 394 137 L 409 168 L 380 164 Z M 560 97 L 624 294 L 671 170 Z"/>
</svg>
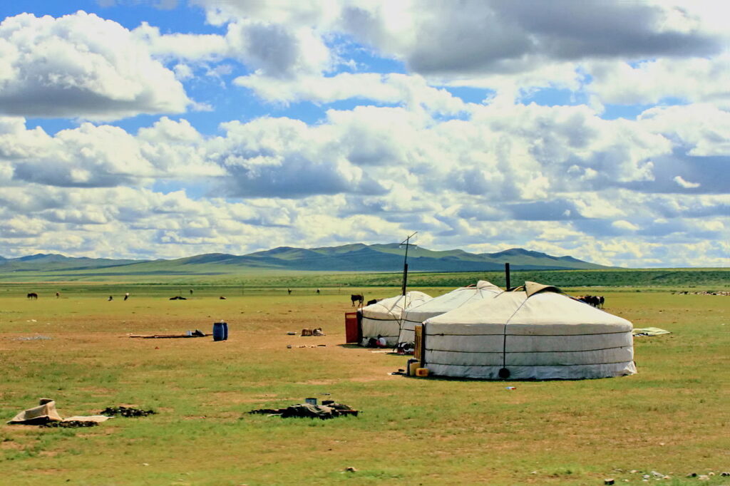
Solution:
<svg viewBox="0 0 730 486">
<path fill-rule="evenodd" d="M 50 297 L 58 288 L 62 298 Z M 26 300 L 31 290 L 38 301 Z M 82 429 L 3 422 L 0 483 L 597 485 L 642 482 L 636 469 L 697 484 L 685 474 L 730 470 L 730 297 L 610 290 L 607 312 L 672 331 L 635 339 L 639 374 L 505 383 L 389 375 L 404 357 L 342 345 L 347 289 L 241 295 L 237 285 L 209 285 L 187 301 L 167 300 L 180 290 L 188 293 L 179 285 L 0 287 L 4 420 L 42 396 L 64 416 L 118 404 L 160 412 Z M 210 332 L 221 318 L 228 342 L 126 337 Z M 286 335 L 319 326 L 327 336 Z M 20 339 L 33 336 L 50 339 Z M 297 347 L 313 344 L 326 347 Z M 310 396 L 363 413 L 325 422 L 246 414 Z"/>
</svg>

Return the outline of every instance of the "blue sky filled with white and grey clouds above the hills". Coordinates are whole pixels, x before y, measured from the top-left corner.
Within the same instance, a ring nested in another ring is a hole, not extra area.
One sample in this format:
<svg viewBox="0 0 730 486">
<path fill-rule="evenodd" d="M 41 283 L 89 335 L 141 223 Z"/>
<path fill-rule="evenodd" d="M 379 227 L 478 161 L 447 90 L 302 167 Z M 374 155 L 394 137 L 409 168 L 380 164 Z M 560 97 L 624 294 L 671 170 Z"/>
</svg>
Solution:
<svg viewBox="0 0 730 486">
<path fill-rule="evenodd" d="M 730 265 L 730 5 L 0 2 L 0 255 Z"/>
</svg>

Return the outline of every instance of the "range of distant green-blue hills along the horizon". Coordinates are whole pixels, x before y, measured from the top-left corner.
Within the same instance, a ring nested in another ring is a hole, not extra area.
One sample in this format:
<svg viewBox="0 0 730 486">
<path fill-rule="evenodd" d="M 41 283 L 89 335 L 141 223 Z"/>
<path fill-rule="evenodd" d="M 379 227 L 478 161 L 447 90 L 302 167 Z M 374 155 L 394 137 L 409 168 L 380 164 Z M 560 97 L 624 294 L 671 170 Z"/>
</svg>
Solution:
<svg viewBox="0 0 730 486">
<path fill-rule="evenodd" d="M 400 271 L 404 250 L 398 244 L 345 244 L 339 247 L 277 247 L 248 255 L 208 253 L 175 260 L 112 260 L 42 254 L 1 258 L 0 272 L 53 272 L 71 274 L 233 274 L 250 270 L 280 271 Z M 571 256 L 556 257 L 512 248 L 496 253 L 464 250 L 434 251 L 412 247 L 410 271 L 496 271 L 509 262 L 513 270 L 608 269 Z"/>
</svg>

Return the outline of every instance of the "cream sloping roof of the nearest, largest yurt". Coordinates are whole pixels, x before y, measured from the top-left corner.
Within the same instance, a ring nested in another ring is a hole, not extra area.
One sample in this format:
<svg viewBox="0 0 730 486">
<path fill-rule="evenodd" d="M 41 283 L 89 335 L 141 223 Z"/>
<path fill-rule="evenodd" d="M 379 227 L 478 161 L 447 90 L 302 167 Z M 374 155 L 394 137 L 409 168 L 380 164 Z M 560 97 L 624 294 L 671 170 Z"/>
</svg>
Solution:
<svg viewBox="0 0 730 486">
<path fill-rule="evenodd" d="M 559 288 L 526 282 L 526 290 L 502 292 L 473 301 L 445 314 L 431 317 L 427 324 L 608 324 L 631 323 L 569 296 Z"/>
</svg>

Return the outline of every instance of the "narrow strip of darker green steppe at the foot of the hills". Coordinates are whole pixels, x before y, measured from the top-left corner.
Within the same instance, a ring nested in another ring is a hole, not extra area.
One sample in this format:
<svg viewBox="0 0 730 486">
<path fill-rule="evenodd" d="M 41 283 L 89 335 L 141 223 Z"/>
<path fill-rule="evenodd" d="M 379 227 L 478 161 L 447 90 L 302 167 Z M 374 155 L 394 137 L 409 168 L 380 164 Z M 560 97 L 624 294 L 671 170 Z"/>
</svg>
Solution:
<svg viewBox="0 0 730 486">
<path fill-rule="evenodd" d="M 126 282 L 136 285 L 228 285 L 234 288 L 310 288 L 331 287 L 361 290 L 369 287 L 401 286 L 402 274 L 395 272 L 324 272 L 242 270 L 230 266 L 226 273 L 205 265 L 178 266 L 175 271 L 133 273 L 131 266 L 83 271 L 1 271 L 0 282 L 65 282 L 95 285 Z M 113 270 L 113 271 L 112 271 Z M 209 271 L 210 270 L 210 271 Z M 504 287 L 503 271 L 480 272 L 411 272 L 409 285 L 415 287 L 460 287 L 489 280 Z M 618 270 L 519 270 L 512 271 L 513 286 L 525 280 L 545 282 L 561 287 L 691 287 L 714 286 L 730 289 L 730 268 L 718 269 L 618 269 Z"/>
</svg>

